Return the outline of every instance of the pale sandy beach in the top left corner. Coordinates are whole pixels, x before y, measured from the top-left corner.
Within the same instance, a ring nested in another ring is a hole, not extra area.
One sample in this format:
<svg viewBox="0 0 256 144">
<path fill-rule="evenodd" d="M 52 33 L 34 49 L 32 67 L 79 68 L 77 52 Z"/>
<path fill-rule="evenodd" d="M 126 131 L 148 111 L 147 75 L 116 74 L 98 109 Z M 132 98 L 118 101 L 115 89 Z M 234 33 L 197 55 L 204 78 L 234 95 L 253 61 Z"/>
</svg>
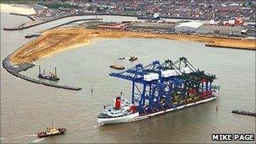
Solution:
<svg viewBox="0 0 256 144">
<path fill-rule="evenodd" d="M 29 8 L 28 6 L 20 6 L 20 5 L 11 5 L 11 4 L 3 4 L 1 3 L 1 12 L 8 13 L 20 13 L 20 14 L 35 14 L 34 8 Z"/>
</svg>

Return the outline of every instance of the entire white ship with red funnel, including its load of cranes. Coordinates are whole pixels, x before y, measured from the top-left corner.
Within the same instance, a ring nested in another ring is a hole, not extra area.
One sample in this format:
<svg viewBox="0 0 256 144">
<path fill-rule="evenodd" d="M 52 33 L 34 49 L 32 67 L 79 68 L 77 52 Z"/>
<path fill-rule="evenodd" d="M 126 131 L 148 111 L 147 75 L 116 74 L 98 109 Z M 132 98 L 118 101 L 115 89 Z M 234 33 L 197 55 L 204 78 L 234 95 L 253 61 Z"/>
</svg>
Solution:
<svg viewBox="0 0 256 144">
<path fill-rule="evenodd" d="M 100 125 L 144 120 L 210 102 L 220 90 L 219 85 L 212 84 L 215 75 L 200 71 L 185 57 L 162 64 L 153 61 L 146 67 L 137 64 L 125 72 L 112 72 L 110 76 L 132 82 L 131 101 L 121 94 L 114 104 L 104 105 L 103 112 L 97 116 Z"/>
</svg>

